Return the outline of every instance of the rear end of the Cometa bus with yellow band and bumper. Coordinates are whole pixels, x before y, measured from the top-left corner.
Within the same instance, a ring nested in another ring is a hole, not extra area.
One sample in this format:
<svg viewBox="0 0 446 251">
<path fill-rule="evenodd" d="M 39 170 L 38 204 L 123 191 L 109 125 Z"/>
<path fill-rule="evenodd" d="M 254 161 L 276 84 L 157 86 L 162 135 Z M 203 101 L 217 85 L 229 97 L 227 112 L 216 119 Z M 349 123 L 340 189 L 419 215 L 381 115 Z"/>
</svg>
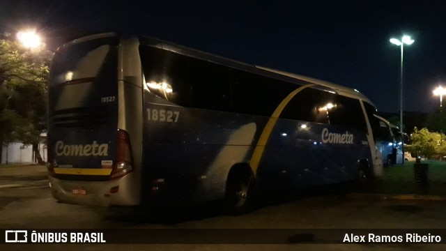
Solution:
<svg viewBox="0 0 446 251">
<path fill-rule="evenodd" d="M 98 206 L 139 203 L 130 139 L 134 132 L 122 121 L 129 102 L 138 102 L 124 94 L 140 89 L 123 76 L 122 47 L 119 36 L 107 33 L 74 40 L 54 54 L 47 167 L 58 201 Z"/>
</svg>

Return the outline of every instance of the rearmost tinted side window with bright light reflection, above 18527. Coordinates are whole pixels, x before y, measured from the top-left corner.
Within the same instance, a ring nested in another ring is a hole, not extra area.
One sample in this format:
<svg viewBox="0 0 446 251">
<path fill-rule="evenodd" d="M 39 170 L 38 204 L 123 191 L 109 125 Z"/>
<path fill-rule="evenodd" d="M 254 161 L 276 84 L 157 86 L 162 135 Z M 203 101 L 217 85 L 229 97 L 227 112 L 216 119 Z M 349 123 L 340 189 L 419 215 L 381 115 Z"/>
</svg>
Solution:
<svg viewBox="0 0 446 251">
<path fill-rule="evenodd" d="M 157 96 L 178 105 L 190 104 L 187 57 L 155 47 L 139 47 L 146 86 Z"/>
</svg>

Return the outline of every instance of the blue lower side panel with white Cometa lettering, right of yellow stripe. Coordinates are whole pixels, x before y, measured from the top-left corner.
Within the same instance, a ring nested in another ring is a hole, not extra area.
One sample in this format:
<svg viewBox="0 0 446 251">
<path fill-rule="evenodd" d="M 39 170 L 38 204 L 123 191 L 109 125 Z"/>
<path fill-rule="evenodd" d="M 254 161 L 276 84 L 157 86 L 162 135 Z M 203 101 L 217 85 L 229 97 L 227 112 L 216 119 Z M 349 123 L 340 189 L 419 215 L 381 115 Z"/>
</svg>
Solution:
<svg viewBox="0 0 446 251">
<path fill-rule="evenodd" d="M 272 192 L 352 181 L 357 161 L 369 158 L 361 130 L 279 120 L 259 165 L 259 187 Z"/>
</svg>

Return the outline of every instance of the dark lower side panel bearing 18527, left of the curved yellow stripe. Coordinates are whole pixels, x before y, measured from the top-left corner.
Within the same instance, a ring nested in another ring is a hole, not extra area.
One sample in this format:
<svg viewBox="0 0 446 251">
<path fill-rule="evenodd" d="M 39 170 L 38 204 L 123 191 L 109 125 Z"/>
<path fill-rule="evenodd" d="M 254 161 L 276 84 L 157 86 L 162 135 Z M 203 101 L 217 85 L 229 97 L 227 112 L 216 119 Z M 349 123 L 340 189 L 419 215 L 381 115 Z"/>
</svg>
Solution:
<svg viewBox="0 0 446 251">
<path fill-rule="evenodd" d="M 148 92 L 144 100 L 146 201 L 222 198 L 229 169 L 249 162 L 259 130 L 268 120 L 179 107 Z"/>
</svg>

